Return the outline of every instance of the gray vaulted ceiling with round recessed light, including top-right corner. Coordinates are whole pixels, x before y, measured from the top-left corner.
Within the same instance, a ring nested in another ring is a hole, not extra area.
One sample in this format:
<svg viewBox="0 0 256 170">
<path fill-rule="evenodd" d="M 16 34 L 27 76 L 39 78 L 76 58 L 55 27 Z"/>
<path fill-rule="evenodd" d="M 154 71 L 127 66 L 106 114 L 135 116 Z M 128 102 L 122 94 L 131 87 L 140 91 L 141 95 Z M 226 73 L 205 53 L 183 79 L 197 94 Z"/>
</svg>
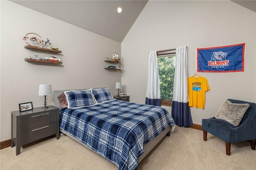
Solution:
<svg viewBox="0 0 256 170">
<path fill-rule="evenodd" d="M 10 0 L 109 39 L 122 42 L 148 0 Z M 256 0 L 231 0 L 256 12 Z M 122 12 L 118 14 L 118 7 Z"/>
</svg>

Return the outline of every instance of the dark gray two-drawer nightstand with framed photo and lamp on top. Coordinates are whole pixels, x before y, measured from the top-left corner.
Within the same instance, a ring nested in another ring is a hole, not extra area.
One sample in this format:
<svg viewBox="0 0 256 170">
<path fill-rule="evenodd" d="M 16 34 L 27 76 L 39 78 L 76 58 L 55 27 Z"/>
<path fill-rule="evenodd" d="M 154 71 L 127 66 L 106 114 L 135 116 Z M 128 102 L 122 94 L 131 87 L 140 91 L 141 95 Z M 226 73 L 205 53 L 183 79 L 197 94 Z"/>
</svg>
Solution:
<svg viewBox="0 0 256 170">
<path fill-rule="evenodd" d="M 16 145 L 16 155 L 20 154 L 22 145 L 39 139 L 56 135 L 60 138 L 60 109 L 48 106 L 47 109 L 36 107 L 29 111 L 12 111 L 11 146 Z"/>
</svg>

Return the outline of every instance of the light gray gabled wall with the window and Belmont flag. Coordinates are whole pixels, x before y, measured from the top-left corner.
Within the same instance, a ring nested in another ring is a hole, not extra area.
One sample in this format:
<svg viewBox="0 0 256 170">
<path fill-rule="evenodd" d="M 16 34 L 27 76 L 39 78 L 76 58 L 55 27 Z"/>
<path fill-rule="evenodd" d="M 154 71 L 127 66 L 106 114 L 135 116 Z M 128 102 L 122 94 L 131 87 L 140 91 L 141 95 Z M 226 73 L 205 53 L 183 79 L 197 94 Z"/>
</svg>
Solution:
<svg viewBox="0 0 256 170">
<path fill-rule="evenodd" d="M 204 109 L 193 122 L 213 117 L 227 98 L 256 102 L 256 13 L 231 1 L 149 1 L 122 41 L 122 83 L 131 102 L 145 103 L 148 51 L 188 46 L 188 75 L 195 49 L 246 43 L 244 72 L 198 72 L 208 79 Z M 167 107 L 171 111 L 171 107 Z"/>
</svg>

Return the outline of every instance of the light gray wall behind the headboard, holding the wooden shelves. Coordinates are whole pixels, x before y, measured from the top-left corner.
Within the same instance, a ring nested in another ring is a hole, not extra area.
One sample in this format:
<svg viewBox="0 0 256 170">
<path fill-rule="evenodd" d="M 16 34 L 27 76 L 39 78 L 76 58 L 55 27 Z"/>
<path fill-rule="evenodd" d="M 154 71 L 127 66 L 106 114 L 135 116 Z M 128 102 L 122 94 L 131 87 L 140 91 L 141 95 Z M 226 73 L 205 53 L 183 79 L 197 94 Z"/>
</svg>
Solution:
<svg viewBox="0 0 256 170">
<path fill-rule="evenodd" d="M 34 107 L 44 104 L 38 96 L 39 84 L 52 84 L 54 90 L 109 87 L 117 94 L 115 83 L 120 82 L 120 72 L 110 72 L 104 67 L 106 57 L 114 51 L 121 56 L 121 43 L 70 25 L 10 1 L 0 1 L 1 8 L 1 83 L 0 83 L 0 141 L 11 138 L 11 111 L 18 104 L 33 102 Z M 42 39 L 50 39 L 62 53 L 46 53 L 24 49 L 22 37 L 29 32 Z M 26 57 L 54 55 L 63 64 L 36 64 L 24 61 Z M 48 96 L 53 105 L 53 94 Z"/>
</svg>

